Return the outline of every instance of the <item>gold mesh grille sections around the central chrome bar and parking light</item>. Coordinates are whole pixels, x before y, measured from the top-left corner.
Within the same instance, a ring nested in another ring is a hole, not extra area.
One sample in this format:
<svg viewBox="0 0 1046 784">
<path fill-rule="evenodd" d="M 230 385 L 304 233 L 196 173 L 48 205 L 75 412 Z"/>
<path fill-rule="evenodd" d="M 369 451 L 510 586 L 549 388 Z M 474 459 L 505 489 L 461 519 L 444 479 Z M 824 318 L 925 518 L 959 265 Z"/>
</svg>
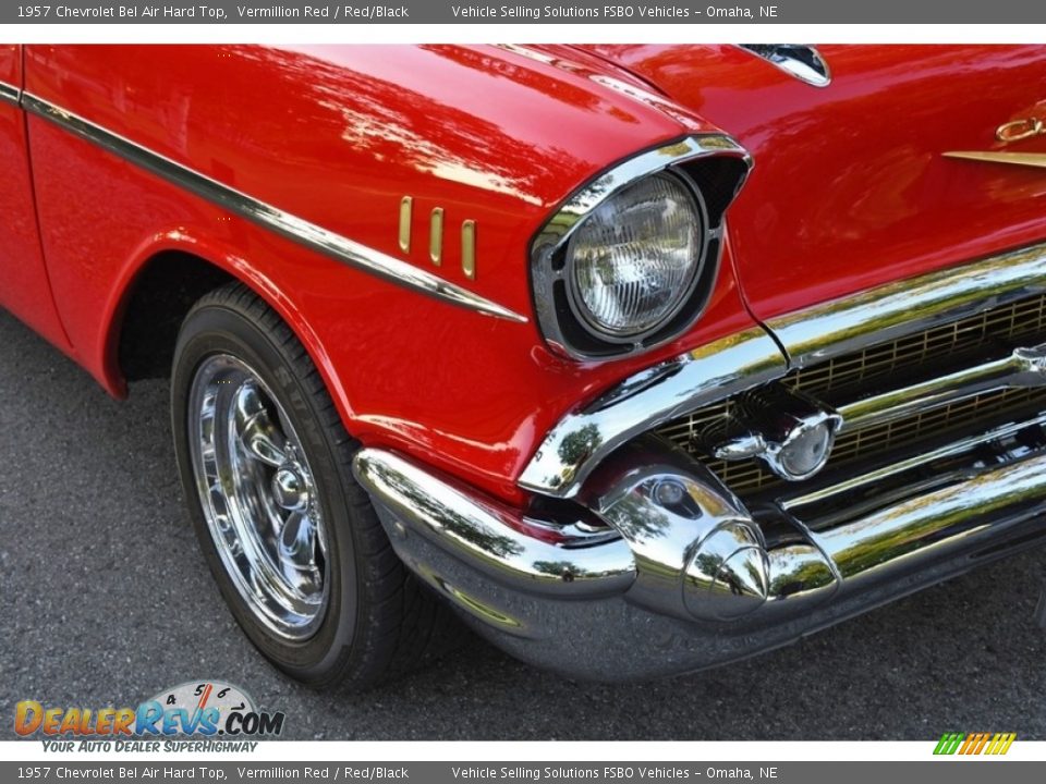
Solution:
<svg viewBox="0 0 1046 784">
<path fill-rule="evenodd" d="M 1037 296 L 802 368 L 781 383 L 815 399 L 839 402 L 883 379 L 910 377 L 928 363 L 940 365 L 942 358 L 956 370 L 971 356 L 994 348 L 1005 353 L 1012 346 L 1043 340 L 1046 296 Z M 700 457 L 740 495 L 783 485 L 757 461 L 721 461 L 704 451 L 706 444 L 717 442 L 717 430 L 727 430 L 738 406 L 735 401 L 717 403 L 664 425 L 657 432 Z M 887 457 L 893 450 L 951 430 L 961 431 L 974 421 L 1001 421 L 1009 412 L 1029 411 L 1046 411 L 1046 388 L 985 392 L 893 421 L 846 430 L 836 441 L 828 469 Z"/>
</svg>

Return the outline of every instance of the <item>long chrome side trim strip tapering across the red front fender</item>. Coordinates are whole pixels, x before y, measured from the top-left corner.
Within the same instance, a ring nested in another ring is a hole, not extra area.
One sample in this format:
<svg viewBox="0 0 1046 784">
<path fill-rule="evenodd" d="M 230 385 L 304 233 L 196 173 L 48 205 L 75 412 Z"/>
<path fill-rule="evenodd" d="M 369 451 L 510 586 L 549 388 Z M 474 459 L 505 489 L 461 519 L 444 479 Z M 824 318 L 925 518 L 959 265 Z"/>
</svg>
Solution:
<svg viewBox="0 0 1046 784">
<path fill-rule="evenodd" d="M 259 201 L 29 93 L 22 94 L 22 105 L 26 111 L 336 261 L 485 316 L 518 323 L 527 321 L 525 316 L 467 289 Z"/>
</svg>

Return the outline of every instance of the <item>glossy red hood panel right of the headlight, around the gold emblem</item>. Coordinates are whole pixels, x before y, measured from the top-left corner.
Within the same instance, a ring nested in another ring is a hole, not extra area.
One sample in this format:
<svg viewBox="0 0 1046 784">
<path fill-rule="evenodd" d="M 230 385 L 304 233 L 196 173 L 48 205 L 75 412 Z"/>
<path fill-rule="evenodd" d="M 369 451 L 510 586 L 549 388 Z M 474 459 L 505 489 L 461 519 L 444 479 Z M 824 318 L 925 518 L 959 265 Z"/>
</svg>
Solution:
<svg viewBox="0 0 1046 784">
<path fill-rule="evenodd" d="M 1044 115 L 1046 48 L 828 46 L 825 88 L 734 47 L 593 47 L 726 128 L 756 166 L 730 211 L 738 272 L 768 319 L 1046 236 L 1042 170 L 942 158 Z"/>
</svg>

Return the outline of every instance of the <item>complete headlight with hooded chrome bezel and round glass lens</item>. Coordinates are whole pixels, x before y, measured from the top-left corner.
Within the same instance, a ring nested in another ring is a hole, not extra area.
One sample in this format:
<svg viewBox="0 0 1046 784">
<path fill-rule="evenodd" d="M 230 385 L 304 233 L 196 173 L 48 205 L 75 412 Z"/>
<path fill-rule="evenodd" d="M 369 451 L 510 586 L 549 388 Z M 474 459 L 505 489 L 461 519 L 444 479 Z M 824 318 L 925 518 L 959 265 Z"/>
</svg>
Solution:
<svg viewBox="0 0 1046 784">
<path fill-rule="evenodd" d="M 604 360 L 685 332 L 711 297 L 722 217 L 750 167 L 728 136 L 690 136 L 617 163 L 560 205 L 531 243 L 549 347 Z"/>
</svg>

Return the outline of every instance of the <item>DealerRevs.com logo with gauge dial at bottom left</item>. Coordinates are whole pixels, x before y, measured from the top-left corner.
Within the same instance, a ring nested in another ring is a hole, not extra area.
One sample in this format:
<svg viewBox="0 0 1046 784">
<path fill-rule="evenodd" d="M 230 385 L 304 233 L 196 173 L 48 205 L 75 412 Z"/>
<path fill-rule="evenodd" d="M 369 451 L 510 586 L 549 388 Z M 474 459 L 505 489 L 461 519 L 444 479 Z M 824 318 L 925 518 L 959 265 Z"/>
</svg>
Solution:
<svg viewBox="0 0 1046 784">
<path fill-rule="evenodd" d="M 135 707 L 65 708 L 22 700 L 14 709 L 14 731 L 42 736 L 45 751 L 253 751 L 254 738 L 280 735 L 285 718 L 259 711 L 236 686 L 198 681 L 165 689 Z"/>
</svg>

